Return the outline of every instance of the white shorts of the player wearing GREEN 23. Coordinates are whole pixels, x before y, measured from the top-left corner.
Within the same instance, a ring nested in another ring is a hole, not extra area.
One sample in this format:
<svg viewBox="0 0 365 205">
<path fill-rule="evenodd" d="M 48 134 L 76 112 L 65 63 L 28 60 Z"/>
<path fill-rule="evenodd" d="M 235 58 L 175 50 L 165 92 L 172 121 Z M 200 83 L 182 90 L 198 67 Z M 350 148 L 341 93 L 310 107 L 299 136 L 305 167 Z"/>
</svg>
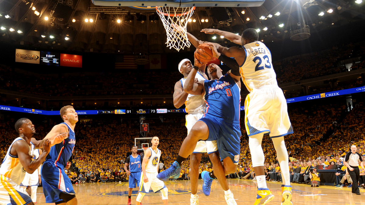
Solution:
<svg viewBox="0 0 365 205">
<path fill-rule="evenodd" d="M 269 134 L 271 138 L 293 133 L 281 88 L 265 86 L 247 95 L 245 126 L 249 137 L 258 133 Z"/>
</svg>

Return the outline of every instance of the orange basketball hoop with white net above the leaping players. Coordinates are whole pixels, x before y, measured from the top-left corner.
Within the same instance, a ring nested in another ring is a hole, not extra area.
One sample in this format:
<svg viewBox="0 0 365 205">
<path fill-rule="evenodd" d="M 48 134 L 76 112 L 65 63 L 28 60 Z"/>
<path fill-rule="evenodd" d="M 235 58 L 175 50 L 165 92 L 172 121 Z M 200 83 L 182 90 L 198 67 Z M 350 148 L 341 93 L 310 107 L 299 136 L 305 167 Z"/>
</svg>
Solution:
<svg viewBox="0 0 365 205">
<path fill-rule="evenodd" d="M 187 25 L 195 7 L 156 7 L 167 35 L 167 47 L 177 51 L 190 47 L 187 35 Z"/>
</svg>

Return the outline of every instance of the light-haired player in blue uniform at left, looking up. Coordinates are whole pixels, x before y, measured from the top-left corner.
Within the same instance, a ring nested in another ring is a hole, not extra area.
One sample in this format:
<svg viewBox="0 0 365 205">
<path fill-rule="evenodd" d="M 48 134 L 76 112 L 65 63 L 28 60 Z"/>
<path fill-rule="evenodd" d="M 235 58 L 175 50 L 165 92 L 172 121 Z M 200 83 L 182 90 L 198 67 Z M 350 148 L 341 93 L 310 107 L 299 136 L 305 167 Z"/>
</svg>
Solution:
<svg viewBox="0 0 365 205">
<path fill-rule="evenodd" d="M 43 193 L 46 197 L 46 203 L 77 205 L 71 180 L 65 173 L 64 168 L 69 166 L 68 161 L 75 147 L 74 128 L 78 117 L 73 106 L 69 105 L 62 107 L 59 113 L 64 122 L 54 126 L 45 138 L 60 133 L 68 133 L 68 137 L 51 147 L 51 151 L 43 163 L 41 170 Z"/>
</svg>

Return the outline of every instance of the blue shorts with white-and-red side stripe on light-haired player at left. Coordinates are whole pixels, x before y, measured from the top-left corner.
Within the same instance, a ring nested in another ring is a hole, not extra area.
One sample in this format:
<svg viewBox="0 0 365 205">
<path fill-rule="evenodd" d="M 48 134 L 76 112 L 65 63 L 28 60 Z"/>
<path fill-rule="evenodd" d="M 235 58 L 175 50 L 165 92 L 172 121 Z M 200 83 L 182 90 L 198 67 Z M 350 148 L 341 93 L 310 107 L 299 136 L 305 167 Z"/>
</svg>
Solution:
<svg viewBox="0 0 365 205">
<path fill-rule="evenodd" d="M 41 170 L 43 184 L 43 193 L 46 197 L 46 203 L 55 203 L 62 201 L 59 198 L 60 193 L 75 194 L 71 180 L 64 170 L 64 166 L 55 163 L 54 160 L 47 159 Z"/>
</svg>

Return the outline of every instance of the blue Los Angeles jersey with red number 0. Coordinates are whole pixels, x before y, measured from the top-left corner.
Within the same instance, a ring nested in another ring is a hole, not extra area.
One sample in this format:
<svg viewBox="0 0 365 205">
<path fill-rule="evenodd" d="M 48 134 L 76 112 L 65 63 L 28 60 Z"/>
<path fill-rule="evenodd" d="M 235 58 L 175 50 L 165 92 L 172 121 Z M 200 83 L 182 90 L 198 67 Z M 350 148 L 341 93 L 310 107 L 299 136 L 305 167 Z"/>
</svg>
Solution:
<svg viewBox="0 0 365 205">
<path fill-rule="evenodd" d="M 239 120 L 241 107 L 241 88 L 234 79 L 226 74 L 218 80 L 205 80 L 206 114 L 215 117 Z"/>
</svg>

